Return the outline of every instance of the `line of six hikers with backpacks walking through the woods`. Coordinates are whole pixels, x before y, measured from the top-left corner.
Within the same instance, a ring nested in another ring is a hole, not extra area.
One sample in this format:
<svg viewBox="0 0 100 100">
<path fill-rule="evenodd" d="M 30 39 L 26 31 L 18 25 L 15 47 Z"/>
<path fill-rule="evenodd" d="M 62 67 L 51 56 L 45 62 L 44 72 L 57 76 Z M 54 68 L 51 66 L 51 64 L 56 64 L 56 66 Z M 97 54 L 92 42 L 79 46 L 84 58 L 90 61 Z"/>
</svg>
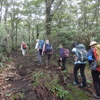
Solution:
<svg viewBox="0 0 100 100">
<path fill-rule="evenodd" d="M 91 69 L 91 75 L 93 79 L 94 88 L 96 90 L 96 94 L 93 94 L 93 97 L 96 99 L 100 99 L 100 44 L 96 41 L 91 41 L 89 44 L 89 51 L 86 50 L 86 46 L 84 44 L 78 44 L 77 42 L 73 43 L 72 51 L 63 48 L 62 45 L 59 45 L 59 59 L 58 70 L 66 70 L 66 59 L 69 57 L 69 53 L 73 55 L 74 59 L 74 67 L 73 67 L 73 76 L 74 76 L 74 85 L 81 86 L 83 88 L 87 88 L 86 76 L 85 76 L 85 67 L 86 63 L 88 63 Z M 25 42 L 21 44 L 22 55 L 25 56 L 27 45 Z M 38 57 L 38 65 L 42 65 L 42 56 L 45 54 L 45 68 L 50 67 L 50 60 L 53 54 L 53 46 L 49 42 L 49 40 L 36 40 L 35 50 Z M 62 63 L 62 64 L 61 64 Z M 82 83 L 80 83 L 78 78 L 78 71 L 80 70 L 80 75 L 82 78 Z"/>
</svg>

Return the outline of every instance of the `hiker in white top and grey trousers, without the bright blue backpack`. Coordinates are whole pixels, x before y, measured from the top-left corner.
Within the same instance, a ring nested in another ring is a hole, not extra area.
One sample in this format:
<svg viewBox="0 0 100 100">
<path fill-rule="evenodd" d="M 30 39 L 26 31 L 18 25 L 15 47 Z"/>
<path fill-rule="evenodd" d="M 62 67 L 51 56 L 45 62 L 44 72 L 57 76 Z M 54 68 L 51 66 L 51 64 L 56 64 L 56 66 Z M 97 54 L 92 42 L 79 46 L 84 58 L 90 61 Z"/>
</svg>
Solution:
<svg viewBox="0 0 100 100">
<path fill-rule="evenodd" d="M 42 50 L 39 49 L 39 41 L 40 41 L 39 39 L 36 40 L 35 50 L 38 56 L 38 65 L 41 65 L 42 64 L 42 59 L 41 59 Z"/>
</svg>

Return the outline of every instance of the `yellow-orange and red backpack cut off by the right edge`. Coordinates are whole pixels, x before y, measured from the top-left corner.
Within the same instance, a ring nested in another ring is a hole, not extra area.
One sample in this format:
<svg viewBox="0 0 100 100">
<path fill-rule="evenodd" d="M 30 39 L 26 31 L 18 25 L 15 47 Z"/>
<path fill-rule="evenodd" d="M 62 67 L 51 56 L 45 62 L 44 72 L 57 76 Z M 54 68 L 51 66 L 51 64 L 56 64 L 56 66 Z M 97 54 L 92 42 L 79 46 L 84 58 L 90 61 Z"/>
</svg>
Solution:
<svg viewBox="0 0 100 100">
<path fill-rule="evenodd" d="M 93 49 L 95 61 L 97 62 L 97 70 L 100 71 L 100 44 L 97 44 Z"/>
</svg>

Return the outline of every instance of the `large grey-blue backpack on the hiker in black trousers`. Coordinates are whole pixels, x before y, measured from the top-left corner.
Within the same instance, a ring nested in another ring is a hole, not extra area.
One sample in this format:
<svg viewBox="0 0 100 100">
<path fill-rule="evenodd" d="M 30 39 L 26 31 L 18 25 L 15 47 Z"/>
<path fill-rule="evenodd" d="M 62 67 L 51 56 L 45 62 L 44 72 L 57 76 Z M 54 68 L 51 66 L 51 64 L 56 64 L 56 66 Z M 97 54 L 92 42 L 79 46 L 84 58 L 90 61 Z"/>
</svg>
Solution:
<svg viewBox="0 0 100 100">
<path fill-rule="evenodd" d="M 87 61 L 88 52 L 84 44 L 79 44 L 76 46 L 76 56 L 77 61 L 85 62 Z"/>
</svg>

